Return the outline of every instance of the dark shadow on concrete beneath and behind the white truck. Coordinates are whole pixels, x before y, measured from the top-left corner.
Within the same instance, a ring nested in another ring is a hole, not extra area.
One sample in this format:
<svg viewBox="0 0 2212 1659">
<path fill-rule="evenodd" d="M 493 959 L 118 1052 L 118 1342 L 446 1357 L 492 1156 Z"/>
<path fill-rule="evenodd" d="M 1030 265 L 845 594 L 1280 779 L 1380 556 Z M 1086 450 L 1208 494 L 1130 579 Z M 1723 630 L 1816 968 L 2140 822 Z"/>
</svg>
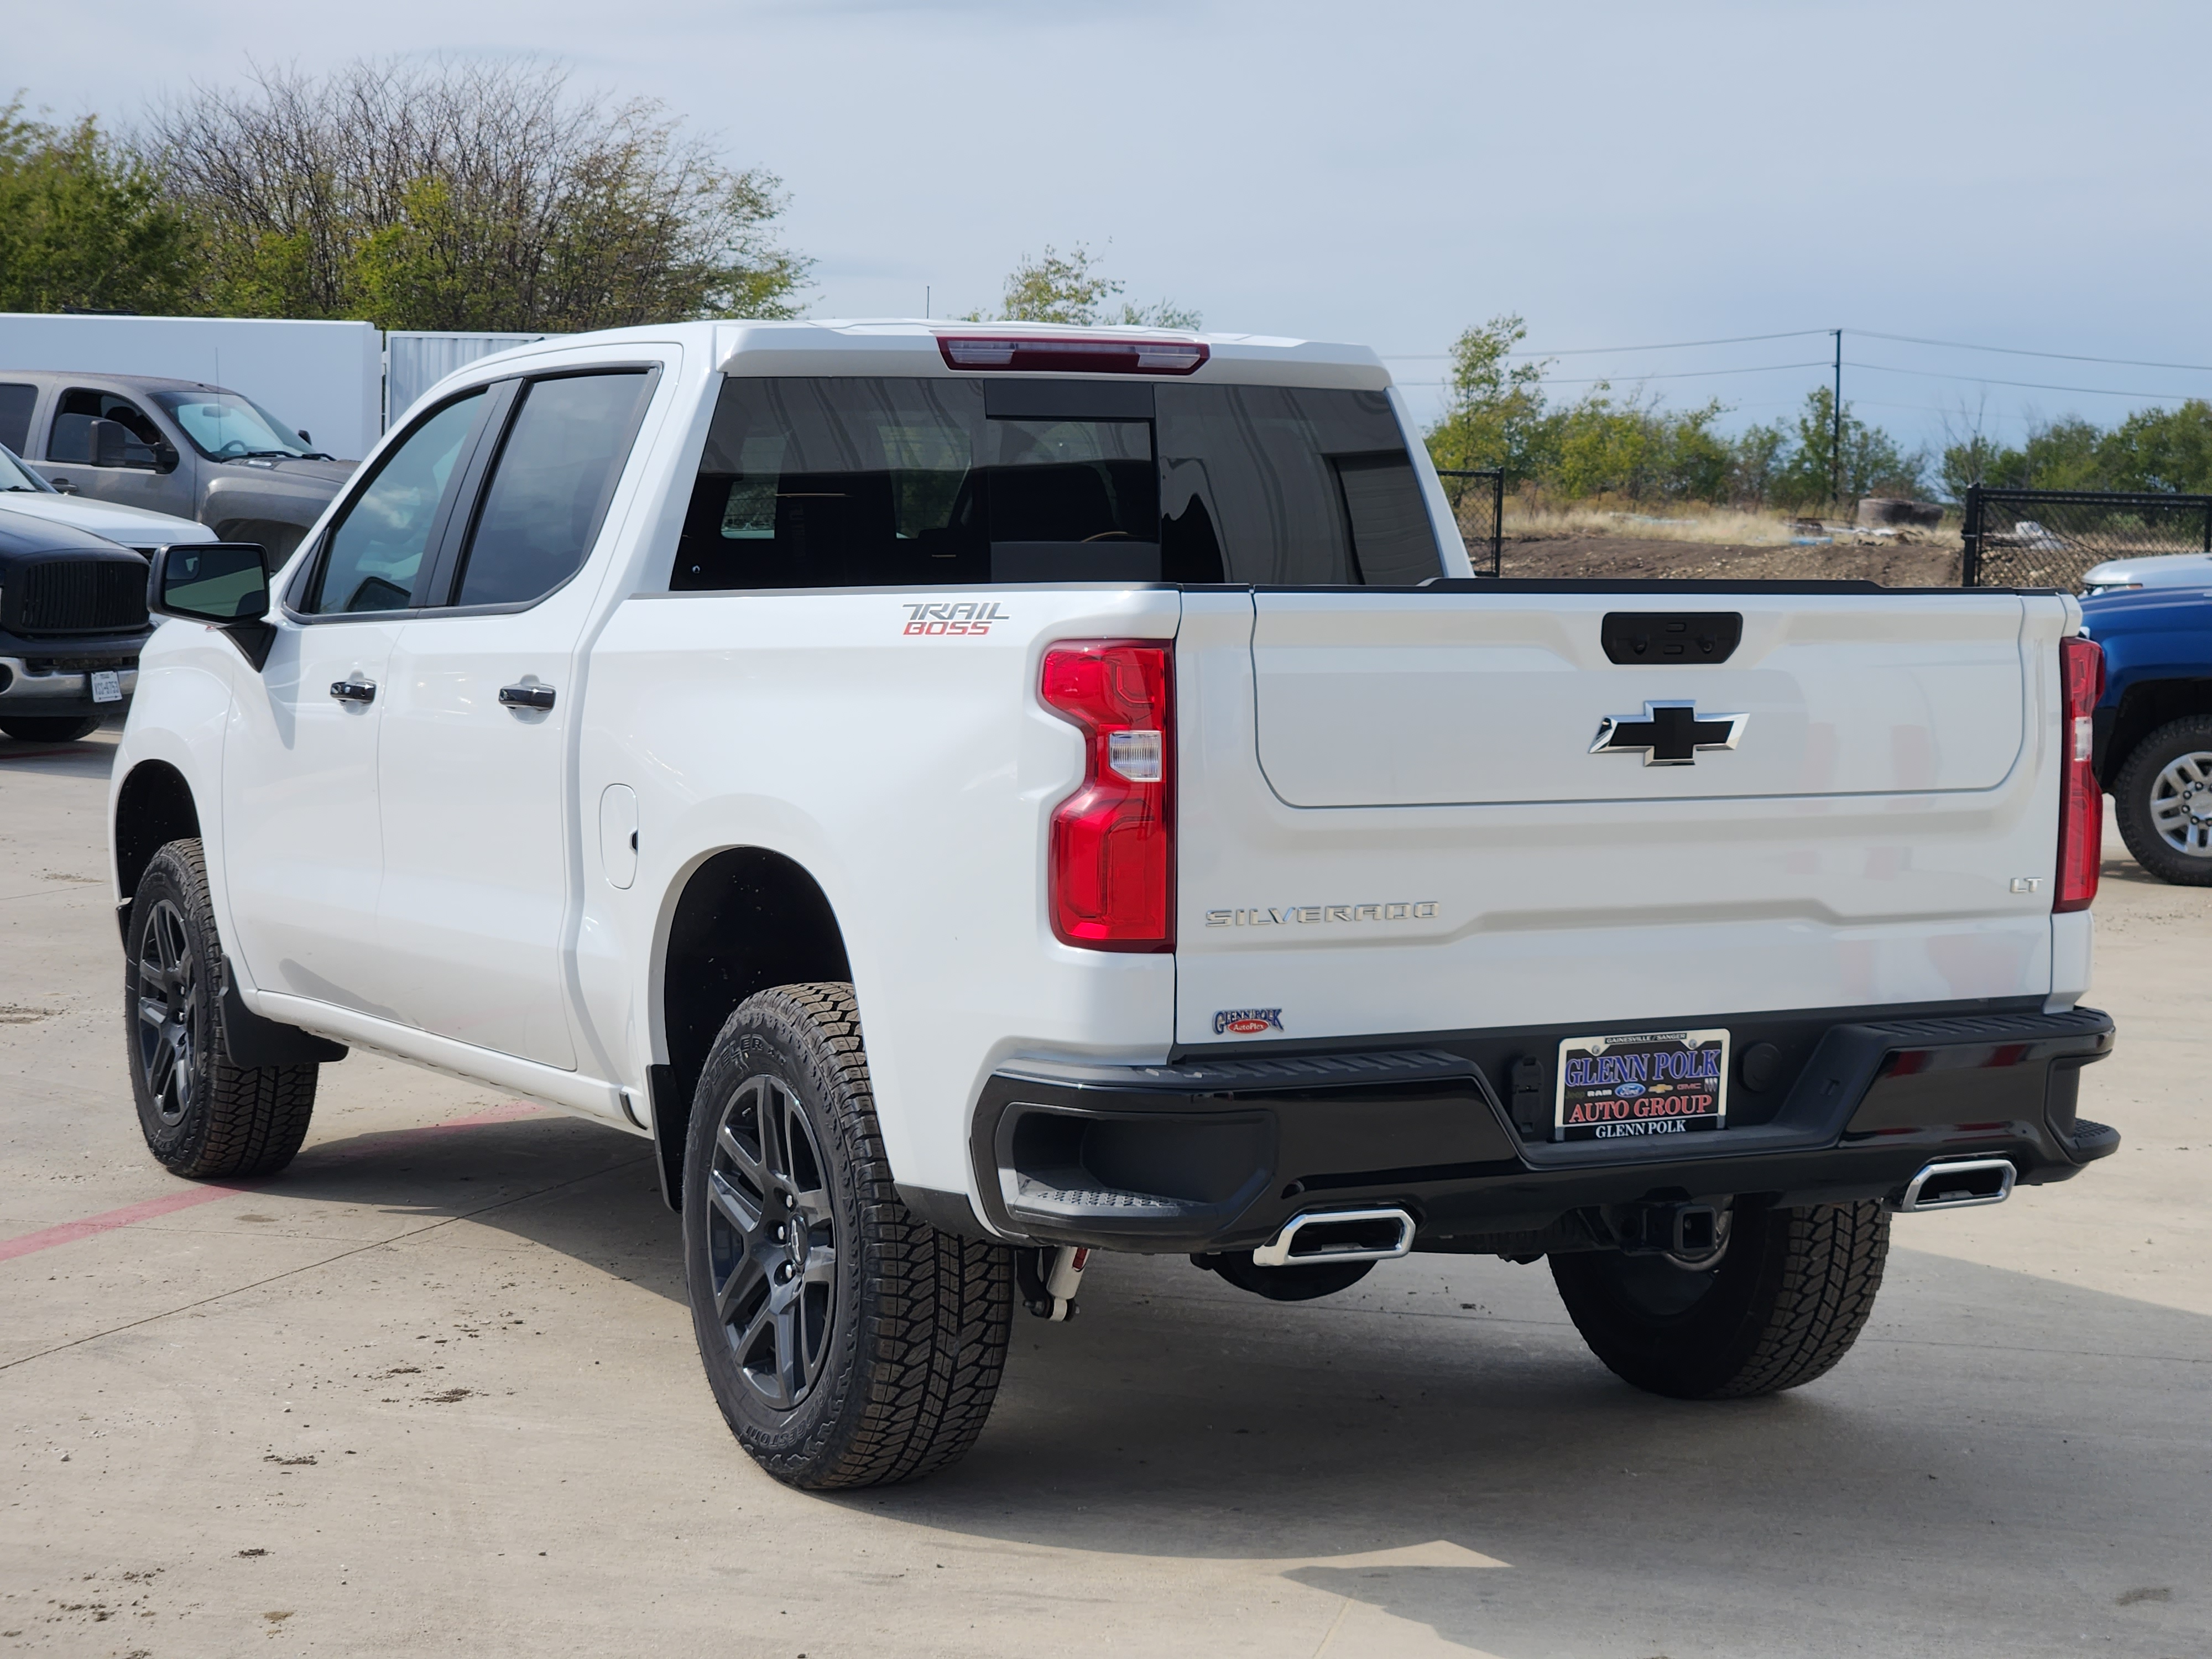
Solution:
<svg viewBox="0 0 2212 1659">
<path fill-rule="evenodd" d="M 688 1325 L 675 1217 L 613 1130 L 365 1135 L 283 1188 L 469 1217 Z M 958 1467 L 803 1495 L 730 1444 L 710 1480 L 1013 1546 L 1031 1588 L 1073 1555 L 1177 1562 L 1230 1604 L 1340 1595 L 1332 1655 L 1997 1655 L 2066 1630 L 2157 1659 L 2212 1648 L 2208 1378 L 2208 1318 L 1907 1248 L 1834 1374 L 1699 1405 L 1606 1374 L 1542 1265 L 1416 1256 L 1274 1305 L 1179 1256 L 1104 1256 L 1073 1325 L 1015 1314 Z M 703 1389 L 692 1409 L 712 1420 Z"/>
</svg>

